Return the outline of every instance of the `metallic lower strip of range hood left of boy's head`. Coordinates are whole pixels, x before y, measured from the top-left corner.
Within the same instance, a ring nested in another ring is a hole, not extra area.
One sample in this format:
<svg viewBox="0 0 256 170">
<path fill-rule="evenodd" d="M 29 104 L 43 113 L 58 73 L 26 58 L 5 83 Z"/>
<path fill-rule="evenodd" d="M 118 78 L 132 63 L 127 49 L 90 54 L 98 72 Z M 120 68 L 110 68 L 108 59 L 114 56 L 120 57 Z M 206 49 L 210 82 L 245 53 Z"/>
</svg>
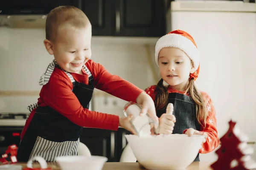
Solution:
<svg viewBox="0 0 256 170">
<path fill-rule="evenodd" d="M 45 28 L 47 15 L 14 14 L 0 15 L 0 26 L 11 28 Z"/>
</svg>

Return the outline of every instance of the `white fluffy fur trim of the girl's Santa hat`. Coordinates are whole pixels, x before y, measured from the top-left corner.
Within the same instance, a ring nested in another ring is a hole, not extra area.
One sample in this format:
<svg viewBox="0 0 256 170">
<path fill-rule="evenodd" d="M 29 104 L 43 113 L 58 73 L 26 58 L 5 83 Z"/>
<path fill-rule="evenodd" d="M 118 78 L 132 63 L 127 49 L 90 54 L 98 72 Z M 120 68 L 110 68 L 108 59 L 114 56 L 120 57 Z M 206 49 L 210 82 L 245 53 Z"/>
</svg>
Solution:
<svg viewBox="0 0 256 170">
<path fill-rule="evenodd" d="M 188 38 L 179 34 L 166 34 L 161 37 L 155 46 L 155 59 L 159 67 L 158 55 L 164 47 L 175 47 L 184 51 L 193 62 L 194 70 L 198 69 L 200 61 L 200 52 L 198 48 Z"/>
</svg>

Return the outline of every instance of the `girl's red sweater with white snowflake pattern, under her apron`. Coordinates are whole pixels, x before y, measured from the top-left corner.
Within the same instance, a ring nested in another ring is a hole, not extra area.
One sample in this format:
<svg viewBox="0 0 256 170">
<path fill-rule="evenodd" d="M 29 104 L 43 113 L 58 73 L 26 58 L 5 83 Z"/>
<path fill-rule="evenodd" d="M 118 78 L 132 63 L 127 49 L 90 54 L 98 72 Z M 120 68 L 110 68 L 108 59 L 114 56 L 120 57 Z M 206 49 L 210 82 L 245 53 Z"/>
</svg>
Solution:
<svg viewBox="0 0 256 170">
<path fill-rule="evenodd" d="M 145 89 L 145 92 L 149 96 L 151 96 L 153 100 L 155 98 L 155 95 L 154 95 L 155 89 L 156 89 L 155 85 L 152 85 L 149 88 Z M 182 92 L 182 91 L 177 91 L 173 88 L 169 88 L 168 93 L 184 94 L 184 91 Z M 218 131 L 216 127 L 216 113 L 215 113 L 215 108 L 212 104 L 212 99 L 210 98 L 210 96 L 203 91 L 201 91 L 201 95 L 206 100 L 208 116 L 206 119 L 206 127 L 201 126 L 200 130 L 204 133 L 207 133 L 208 137 L 206 142 L 202 144 L 202 148 L 199 150 L 199 153 L 209 153 L 209 152 L 212 152 L 219 145 Z M 183 131 L 183 133 L 185 132 L 186 130 Z"/>
</svg>

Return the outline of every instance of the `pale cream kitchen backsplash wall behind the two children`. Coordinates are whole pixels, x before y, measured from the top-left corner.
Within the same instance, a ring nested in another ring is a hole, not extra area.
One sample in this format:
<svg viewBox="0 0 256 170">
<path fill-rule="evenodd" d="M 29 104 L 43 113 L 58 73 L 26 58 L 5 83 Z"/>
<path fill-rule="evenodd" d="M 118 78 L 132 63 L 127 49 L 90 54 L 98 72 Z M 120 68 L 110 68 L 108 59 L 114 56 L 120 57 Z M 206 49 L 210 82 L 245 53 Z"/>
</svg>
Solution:
<svg viewBox="0 0 256 170">
<path fill-rule="evenodd" d="M 40 91 L 39 78 L 53 59 L 44 47 L 44 39 L 44 29 L 0 28 L 0 91 Z M 154 84 L 143 44 L 98 43 L 98 40 L 99 37 L 92 41 L 91 59 L 139 88 Z M 149 50 L 154 57 L 154 45 Z M 0 112 L 28 112 L 26 106 L 37 102 L 37 98 L 0 96 Z"/>
</svg>

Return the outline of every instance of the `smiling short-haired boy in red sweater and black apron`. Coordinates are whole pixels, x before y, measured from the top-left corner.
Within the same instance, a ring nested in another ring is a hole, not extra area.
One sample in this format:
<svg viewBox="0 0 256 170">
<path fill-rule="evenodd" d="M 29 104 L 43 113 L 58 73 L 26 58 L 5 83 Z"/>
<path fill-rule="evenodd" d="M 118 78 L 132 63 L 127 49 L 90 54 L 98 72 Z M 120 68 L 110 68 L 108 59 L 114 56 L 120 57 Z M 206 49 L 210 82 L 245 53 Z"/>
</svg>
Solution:
<svg viewBox="0 0 256 170">
<path fill-rule="evenodd" d="M 80 9 L 60 6 L 49 12 L 44 45 L 54 60 L 40 79 L 43 87 L 37 104 L 28 107 L 31 113 L 20 136 L 18 161 L 77 155 L 83 127 L 117 130 L 121 126 L 135 133 L 131 116 L 88 110 L 94 87 L 143 105 L 142 114 L 149 113 L 158 123 L 150 96 L 90 60 L 91 36 L 90 21 Z"/>
</svg>

